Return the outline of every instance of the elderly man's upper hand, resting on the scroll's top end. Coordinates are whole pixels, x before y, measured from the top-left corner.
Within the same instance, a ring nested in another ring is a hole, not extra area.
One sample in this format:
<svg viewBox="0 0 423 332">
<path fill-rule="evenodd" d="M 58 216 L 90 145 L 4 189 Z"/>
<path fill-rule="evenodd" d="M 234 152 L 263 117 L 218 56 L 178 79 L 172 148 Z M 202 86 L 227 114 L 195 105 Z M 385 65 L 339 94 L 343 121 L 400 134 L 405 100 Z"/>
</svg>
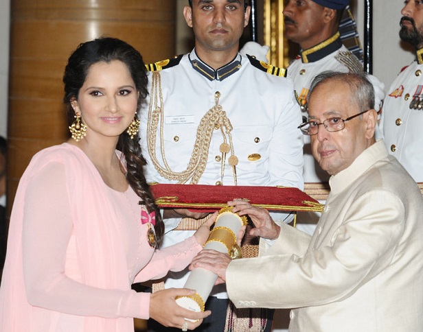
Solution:
<svg viewBox="0 0 423 332">
<path fill-rule="evenodd" d="M 252 206 L 244 200 L 232 200 L 228 202 L 233 206 L 232 212 L 238 215 L 249 215 L 255 228 L 251 228 L 250 235 L 264 237 L 265 239 L 276 239 L 279 237 L 280 227 L 273 222 L 271 215 L 266 209 Z"/>
</svg>

